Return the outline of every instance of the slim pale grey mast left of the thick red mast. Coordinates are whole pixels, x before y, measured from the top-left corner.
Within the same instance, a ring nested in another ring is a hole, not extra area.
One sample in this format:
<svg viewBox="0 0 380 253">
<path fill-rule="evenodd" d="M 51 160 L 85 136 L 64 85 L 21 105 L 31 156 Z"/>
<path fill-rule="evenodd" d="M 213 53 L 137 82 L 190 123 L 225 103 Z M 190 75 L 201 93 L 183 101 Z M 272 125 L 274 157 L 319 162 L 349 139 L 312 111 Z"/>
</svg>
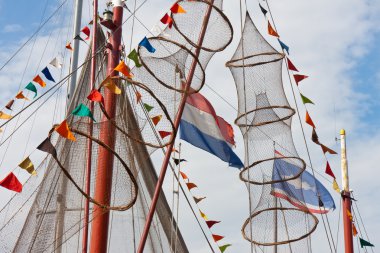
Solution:
<svg viewBox="0 0 380 253">
<path fill-rule="evenodd" d="M 83 0 L 75 1 L 75 17 L 74 17 L 74 31 L 73 38 L 80 33 L 81 20 L 82 20 L 82 6 Z M 70 85 L 69 85 L 69 93 L 67 94 L 68 101 L 71 102 L 71 98 L 74 95 L 75 87 L 77 84 L 77 68 L 78 68 L 78 58 L 79 58 L 79 40 L 74 40 L 73 45 L 73 53 L 71 57 L 71 65 L 70 65 Z M 68 103 L 70 104 L 70 103 Z"/>
</svg>

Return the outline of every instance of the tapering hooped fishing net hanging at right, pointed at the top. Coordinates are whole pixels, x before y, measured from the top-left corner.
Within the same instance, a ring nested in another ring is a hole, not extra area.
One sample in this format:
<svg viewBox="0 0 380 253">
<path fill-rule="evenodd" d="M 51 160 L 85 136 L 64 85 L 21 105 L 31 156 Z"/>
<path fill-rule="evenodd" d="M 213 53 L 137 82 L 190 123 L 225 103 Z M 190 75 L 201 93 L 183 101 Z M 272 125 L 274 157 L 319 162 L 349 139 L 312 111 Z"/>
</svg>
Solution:
<svg viewBox="0 0 380 253">
<path fill-rule="evenodd" d="M 248 184 L 251 214 L 242 233 L 246 240 L 276 250 L 277 245 L 307 238 L 318 224 L 303 196 L 292 190 L 302 189 L 300 175 L 306 164 L 293 144 L 291 117 L 295 111 L 282 84 L 283 58 L 247 13 L 238 48 L 226 63 L 237 88 L 235 123 L 246 148 L 240 179 Z"/>
</svg>

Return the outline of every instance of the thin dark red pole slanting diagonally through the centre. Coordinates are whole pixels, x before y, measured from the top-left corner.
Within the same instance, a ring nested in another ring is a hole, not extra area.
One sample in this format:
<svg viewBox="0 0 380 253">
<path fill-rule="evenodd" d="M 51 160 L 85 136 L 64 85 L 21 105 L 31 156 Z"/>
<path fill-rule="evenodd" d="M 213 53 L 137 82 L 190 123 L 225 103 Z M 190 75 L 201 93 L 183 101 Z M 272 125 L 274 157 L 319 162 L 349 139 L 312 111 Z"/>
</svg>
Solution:
<svg viewBox="0 0 380 253">
<path fill-rule="evenodd" d="M 192 82 L 193 77 L 194 77 L 195 69 L 197 66 L 197 58 L 200 55 L 203 40 L 204 40 L 206 30 L 207 30 L 207 25 L 208 25 L 208 22 L 210 20 L 213 4 L 214 4 L 214 0 L 210 0 L 206 14 L 204 16 L 204 20 L 203 20 L 203 24 L 202 24 L 202 30 L 200 32 L 198 43 L 197 43 L 197 48 L 196 48 L 195 53 L 194 53 L 195 58 L 194 58 L 191 66 L 190 66 L 189 74 L 188 74 L 187 79 L 186 79 L 187 81 L 185 84 L 185 92 L 183 93 L 183 97 L 181 99 L 181 103 L 179 105 L 178 112 L 177 112 L 177 115 L 176 115 L 175 120 L 174 120 L 174 129 L 173 129 L 173 134 L 171 135 L 171 142 L 166 149 L 165 158 L 162 162 L 160 176 L 158 177 L 157 185 L 156 185 L 154 195 L 152 198 L 152 203 L 151 203 L 150 208 L 149 208 L 149 213 L 148 213 L 148 216 L 146 218 L 144 230 L 143 230 L 143 233 L 141 235 L 141 240 L 139 243 L 139 247 L 137 249 L 137 253 L 143 253 L 144 248 L 145 248 L 145 243 L 146 243 L 146 240 L 148 238 L 149 229 L 150 229 L 150 226 L 152 224 L 154 212 L 156 210 L 158 197 L 160 196 L 160 193 L 161 193 L 161 188 L 162 188 L 162 184 L 164 183 L 164 178 L 165 178 L 165 174 L 166 174 L 166 171 L 168 168 L 171 152 L 172 152 L 173 147 L 174 147 L 174 140 L 177 136 L 179 123 L 180 123 L 181 118 L 182 118 L 182 113 L 183 113 L 183 110 L 185 108 L 188 92 L 190 90 L 191 82 Z"/>
</svg>

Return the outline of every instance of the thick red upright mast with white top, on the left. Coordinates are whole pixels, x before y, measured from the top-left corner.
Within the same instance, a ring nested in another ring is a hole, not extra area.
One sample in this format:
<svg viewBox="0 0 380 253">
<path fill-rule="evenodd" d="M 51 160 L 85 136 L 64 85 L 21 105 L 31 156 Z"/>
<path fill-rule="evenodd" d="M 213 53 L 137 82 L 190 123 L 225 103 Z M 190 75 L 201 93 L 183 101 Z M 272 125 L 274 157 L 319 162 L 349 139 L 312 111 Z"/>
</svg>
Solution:
<svg viewBox="0 0 380 253">
<path fill-rule="evenodd" d="M 108 49 L 108 64 L 107 75 L 118 75 L 114 68 L 119 64 L 120 59 L 120 43 L 123 21 L 123 2 L 122 0 L 113 0 L 113 24 L 111 28 L 112 34 L 110 37 L 110 49 Z M 116 95 L 105 89 L 104 100 L 105 110 L 111 119 L 116 115 Z M 115 146 L 115 127 L 104 116 L 100 128 L 99 139 L 111 149 Z M 99 155 L 97 161 L 97 172 L 95 180 L 95 196 L 98 202 L 109 205 L 112 189 L 112 173 L 113 173 L 114 156 L 111 152 L 103 147 L 99 147 Z M 93 221 L 91 228 L 91 252 L 106 253 L 108 244 L 108 225 L 109 225 L 108 210 L 94 205 Z"/>
</svg>

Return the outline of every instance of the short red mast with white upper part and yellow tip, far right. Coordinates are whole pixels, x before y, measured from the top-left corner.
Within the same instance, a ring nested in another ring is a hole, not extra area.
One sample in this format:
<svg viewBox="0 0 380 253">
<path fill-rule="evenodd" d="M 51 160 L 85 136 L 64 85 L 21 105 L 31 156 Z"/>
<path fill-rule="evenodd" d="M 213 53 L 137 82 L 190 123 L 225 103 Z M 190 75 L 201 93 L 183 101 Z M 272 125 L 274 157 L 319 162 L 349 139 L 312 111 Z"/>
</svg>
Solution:
<svg viewBox="0 0 380 253">
<path fill-rule="evenodd" d="M 345 253 L 353 253 L 352 221 L 348 215 L 351 213 L 351 194 L 348 179 L 347 154 L 346 154 L 346 131 L 340 130 L 341 168 L 342 168 L 342 202 L 343 202 L 343 225 L 344 225 L 344 248 Z"/>
</svg>

